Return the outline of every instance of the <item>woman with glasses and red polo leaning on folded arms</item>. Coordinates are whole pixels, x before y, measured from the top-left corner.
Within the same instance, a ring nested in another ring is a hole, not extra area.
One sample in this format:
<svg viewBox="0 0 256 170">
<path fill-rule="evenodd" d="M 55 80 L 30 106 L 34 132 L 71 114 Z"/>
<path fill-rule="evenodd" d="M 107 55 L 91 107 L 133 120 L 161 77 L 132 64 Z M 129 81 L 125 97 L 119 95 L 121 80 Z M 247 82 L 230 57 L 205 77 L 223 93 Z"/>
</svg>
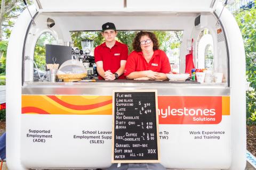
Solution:
<svg viewBox="0 0 256 170">
<path fill-rule="evenodd" d="M 171 71 L 166 54 L 159 49 L 153 32 L 140 31 L 133 40 L 134 51 L 126 61 L 124 75 L 134 80 L 166 80 Z"/>
</svg>

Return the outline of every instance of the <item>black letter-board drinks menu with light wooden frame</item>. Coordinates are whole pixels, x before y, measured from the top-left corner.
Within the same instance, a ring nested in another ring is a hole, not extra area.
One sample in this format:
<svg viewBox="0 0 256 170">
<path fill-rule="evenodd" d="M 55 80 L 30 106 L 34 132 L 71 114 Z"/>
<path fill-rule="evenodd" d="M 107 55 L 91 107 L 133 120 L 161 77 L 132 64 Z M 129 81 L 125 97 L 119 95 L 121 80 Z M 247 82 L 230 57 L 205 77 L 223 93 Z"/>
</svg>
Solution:
<svg viewBox="0 0 256 170">
<path fill-rule="evenodd" d="M 112 163 L 158 163 L 157 91 L 113 91 Z"/>
</svg>

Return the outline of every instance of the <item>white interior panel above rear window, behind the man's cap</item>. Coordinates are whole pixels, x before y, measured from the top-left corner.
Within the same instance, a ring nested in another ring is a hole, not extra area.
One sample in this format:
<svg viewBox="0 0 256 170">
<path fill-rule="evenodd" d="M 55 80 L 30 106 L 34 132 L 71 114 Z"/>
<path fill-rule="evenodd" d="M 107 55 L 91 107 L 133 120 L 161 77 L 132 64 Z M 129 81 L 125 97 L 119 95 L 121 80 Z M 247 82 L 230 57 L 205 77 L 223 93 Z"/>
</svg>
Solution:
<svg viewBox="0 0 256 170">
<path fill-rule="evenodd" d="M 36 20 L 49 17 L 57 27 L 65 30 L 101 30 L 106 22 L 116 24 L 118 30 L 185 30 L 194 27 L 199 13 L 40 13 Z"/>
</svg>

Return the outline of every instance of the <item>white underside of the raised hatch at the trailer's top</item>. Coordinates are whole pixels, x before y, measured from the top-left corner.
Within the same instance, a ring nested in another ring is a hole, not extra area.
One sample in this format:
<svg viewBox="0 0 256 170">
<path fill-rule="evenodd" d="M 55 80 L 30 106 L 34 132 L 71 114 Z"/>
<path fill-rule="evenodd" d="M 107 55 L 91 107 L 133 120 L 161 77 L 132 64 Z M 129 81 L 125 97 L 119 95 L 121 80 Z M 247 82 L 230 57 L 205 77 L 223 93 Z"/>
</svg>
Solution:
<svg viewBox="0 0 256 170">
<path fill-rule="evenodd" d="M 217 0 L 34 0 L 37 9 L 42 12 L 63 11 L 177 11 L 177 12 L 203 12 L 214 11 Z"/>
</svg>

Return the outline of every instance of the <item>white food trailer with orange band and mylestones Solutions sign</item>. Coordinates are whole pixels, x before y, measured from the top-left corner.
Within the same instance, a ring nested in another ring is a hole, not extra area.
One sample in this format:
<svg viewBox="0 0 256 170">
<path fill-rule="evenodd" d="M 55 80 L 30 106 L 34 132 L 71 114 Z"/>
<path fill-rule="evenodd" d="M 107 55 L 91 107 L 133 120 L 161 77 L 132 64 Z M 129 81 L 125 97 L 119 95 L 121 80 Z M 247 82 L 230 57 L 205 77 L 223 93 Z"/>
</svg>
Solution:
<svg viewBox="0 0 256 170">
<path fill-rule="evenodd" d="M 86 169 L 111 165 L 113 90 L 157 90 L 161 164 L 169 169 L 244 169 L 245 52 L 238 25 L 215 0 L 34 0 L 11 33 L 6 60 L 6 160 L 11 170 Z M 198 18 L 198 16 L 201 16 Z M 47 19 L 55 21 L 47 27 Z M 217 20 L 219 18 L 219 23 Z M 70 31 L 183 30 L 180 73 L 188 39 L 212 35 L 213 70 L 222 83 L 33 81 L 38 37 L 71 41 Z M 28 60 L 28 58 L 30 58 Z"/>
</svg>

